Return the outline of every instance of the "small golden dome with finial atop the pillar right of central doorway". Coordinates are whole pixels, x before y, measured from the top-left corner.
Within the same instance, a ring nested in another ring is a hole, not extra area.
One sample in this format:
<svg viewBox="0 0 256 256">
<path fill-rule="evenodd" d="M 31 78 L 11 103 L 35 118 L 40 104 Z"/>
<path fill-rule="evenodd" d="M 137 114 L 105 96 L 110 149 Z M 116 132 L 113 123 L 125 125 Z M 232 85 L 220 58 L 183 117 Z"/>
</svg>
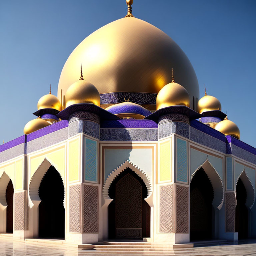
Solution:
<svg viewBox="0 0 256 256">
<path fill-rule="evenodd" d="M 165 85 L 156 96 L 156 109 L 183 105 L 189 107 L 189 94 L 188 91 L 174 82 L 172 77 L 172 82 Z"/>
</svg>

